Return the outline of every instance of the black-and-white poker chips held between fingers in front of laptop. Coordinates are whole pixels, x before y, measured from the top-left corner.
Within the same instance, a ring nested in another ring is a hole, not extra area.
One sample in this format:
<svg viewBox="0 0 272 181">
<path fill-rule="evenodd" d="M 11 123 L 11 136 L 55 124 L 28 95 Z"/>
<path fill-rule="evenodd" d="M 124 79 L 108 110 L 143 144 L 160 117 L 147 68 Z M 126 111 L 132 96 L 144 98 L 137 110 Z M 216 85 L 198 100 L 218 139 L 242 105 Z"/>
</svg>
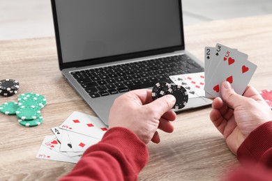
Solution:
<svg viewBox="0 0 272 181">
<path fill-rule="evenodd" d="M 183 88 L 183 86 L 171 85 L 165 81 L 161 81 L 152 88 L 153 100 L 168 94 L 174 95 L 176 98 L 176 103 L 174 104 L 173 109 L 183 109 L 183 107 L 186 106 L 188 102 L 188 93 L 186 88 Z"/>
</svg>

